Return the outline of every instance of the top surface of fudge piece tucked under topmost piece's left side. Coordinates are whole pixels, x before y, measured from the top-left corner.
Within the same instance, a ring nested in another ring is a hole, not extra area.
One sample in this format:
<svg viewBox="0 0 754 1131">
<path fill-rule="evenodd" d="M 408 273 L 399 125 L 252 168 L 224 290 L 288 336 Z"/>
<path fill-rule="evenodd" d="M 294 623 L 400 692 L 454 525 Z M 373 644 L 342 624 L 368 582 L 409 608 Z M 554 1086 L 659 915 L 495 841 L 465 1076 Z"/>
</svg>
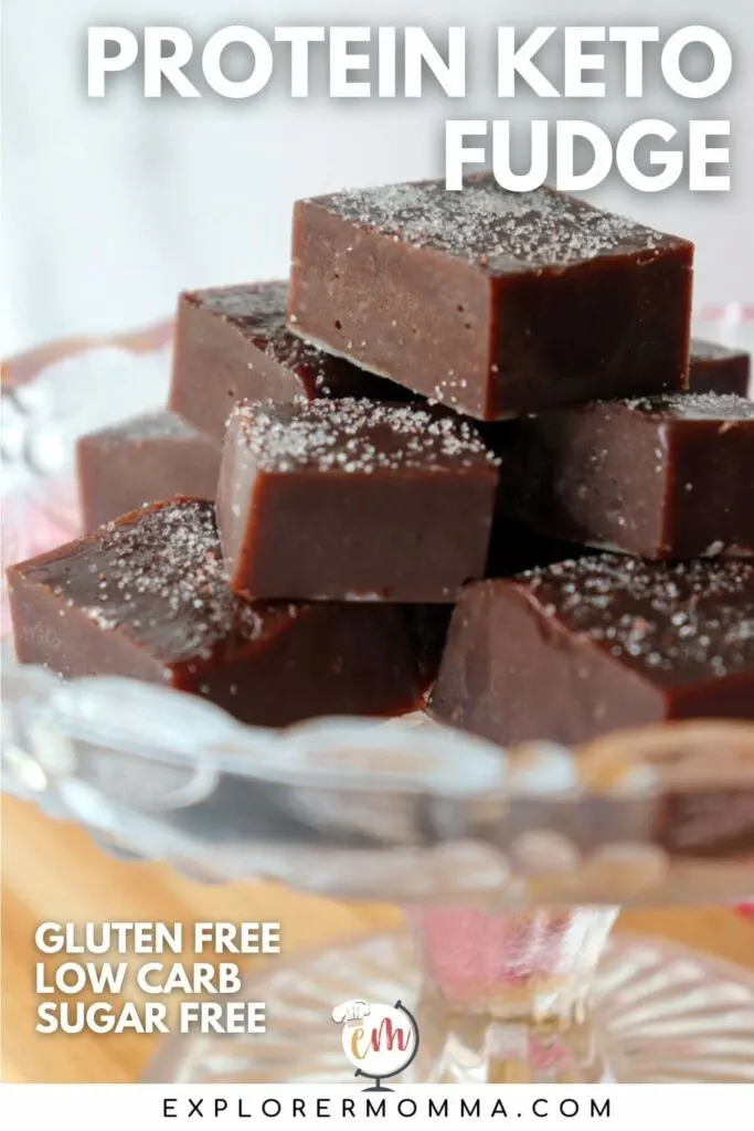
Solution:
<svg viewBox="0 0 754 1131">
<path fill-rule="evenodd" d="M 343 362 L 333 361 L 323 349 L 287 328 L 287 283 L 246 283 L 187 291 L 183 297 L 233 323 L 271 361 L 292 370 L 306 369 L 312 374 L 314 388 L 326 395 L 330 392 L 329 382 L 336 379 L 335 370 Z"/>
</svg>

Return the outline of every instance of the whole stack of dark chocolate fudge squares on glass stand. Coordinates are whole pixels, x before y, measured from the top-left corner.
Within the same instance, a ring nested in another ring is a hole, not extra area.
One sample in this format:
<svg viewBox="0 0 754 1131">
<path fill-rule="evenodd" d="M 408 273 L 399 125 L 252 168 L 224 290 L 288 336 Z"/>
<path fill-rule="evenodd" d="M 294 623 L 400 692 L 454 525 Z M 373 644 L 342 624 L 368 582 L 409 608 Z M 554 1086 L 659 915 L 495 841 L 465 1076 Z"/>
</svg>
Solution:
<svg viewBox="0 0 754 1131">
<path fill-rule="evenodd" d="M 289 282 L 181 295 L 168 408 L 80 441 L 19 658 L 266 726 L 754 718 L 749 359 L 690 340 L 692 261 L 485 175 L 301 201 Z"/>
</svg>

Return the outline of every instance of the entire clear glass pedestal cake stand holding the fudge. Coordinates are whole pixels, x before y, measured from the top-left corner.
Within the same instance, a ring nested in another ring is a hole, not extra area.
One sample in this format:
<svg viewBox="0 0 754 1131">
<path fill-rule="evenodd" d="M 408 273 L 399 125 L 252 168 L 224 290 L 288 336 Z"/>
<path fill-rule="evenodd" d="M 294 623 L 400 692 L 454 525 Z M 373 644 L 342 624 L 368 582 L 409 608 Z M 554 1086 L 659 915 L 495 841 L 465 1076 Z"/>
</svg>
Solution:
<svg viewBox="0 0 754 1131">
<path fill-rule="evenodd" d="M 753 319 L 699 331 L 751 345 Z M 159 406 L 167 380 L 166 349 L 107 347 L 3 387 L 3 564 L 76 534 L 76 438 Z M 501 751 L 422 715 L 258 729 L 170 689 L 19 666 L 2 596 L 6 791 L 124 858 L 407 908 L 405 934 L 255 962 L 263 1039 L 170 1038 L 149 1080 L 347 1082 L 331 1015 L 361 1000 L 415 1017 L 404 1080 L 754 1081 L 754 976 L 612 934 L 621 906 L 752 896 L 753 725 L 578 752 Z"/>
</svg>

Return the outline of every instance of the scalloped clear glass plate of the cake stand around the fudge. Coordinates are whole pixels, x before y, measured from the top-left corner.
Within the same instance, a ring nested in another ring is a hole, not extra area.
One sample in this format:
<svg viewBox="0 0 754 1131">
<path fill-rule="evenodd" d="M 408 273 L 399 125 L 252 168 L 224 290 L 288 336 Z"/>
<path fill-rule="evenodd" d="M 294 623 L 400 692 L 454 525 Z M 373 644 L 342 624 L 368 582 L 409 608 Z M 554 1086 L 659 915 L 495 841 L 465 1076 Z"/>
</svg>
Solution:
<svg viewBox="0 0 754 1131">
<path fill-rule="evenodd" d="M 695 327 L 699 336 L 754 344 L 754 308 L 719 313 Z M 168 357 L 165 349 L 89 351 L 3 389 L 3 564 L 76 533 L 73 441 L 163 404 Z M 2 596 L 7 625 L 5 585 Z M 643 901 L 667 899 L 671 889 L 685 898 L 700 883 L 734 898 L 746 892 L 744 870 L 752 874 L 752 857 L 728 858 L 714 879 L 710 861 L 673 862 L 652 840 L 645 810 L 700 783 L 753 789 L 754 761 L 716 760 L 712 783 L 694 757 L 681 770 L 651 758 L 639 766 L 608 758 L 586 770 L 553 743 L 503 752 L 422 716 L 266 731 L 167 688 L 104 676 L 63 684 L 18 665 L 7 644 L 2 668 L 3 787 L 121 849 L 205 875 L 261 870 L 312 890 L 391 899 L 415 898 L 417 884 L 424 895 L 462 891 L 465 899 L 470 890 L 505 890 L 508 900 L 527 903 L 615 901 L 618 893 Z M 244 782 L 265 786 L 283 832 L 259 834 L 237 813 L 235 823 L 227 817 L 228 789 Z M 574 832 L 593 817 L 595 796 L 623 821 L 622 839 L 603 843 L 592 832 L 587 844 Z M 523 824 L 512 821 L 513 798 Z M 181 812 L 206 815 L 207 806 L 206 827 L 170 826 Z"/>
</svg>

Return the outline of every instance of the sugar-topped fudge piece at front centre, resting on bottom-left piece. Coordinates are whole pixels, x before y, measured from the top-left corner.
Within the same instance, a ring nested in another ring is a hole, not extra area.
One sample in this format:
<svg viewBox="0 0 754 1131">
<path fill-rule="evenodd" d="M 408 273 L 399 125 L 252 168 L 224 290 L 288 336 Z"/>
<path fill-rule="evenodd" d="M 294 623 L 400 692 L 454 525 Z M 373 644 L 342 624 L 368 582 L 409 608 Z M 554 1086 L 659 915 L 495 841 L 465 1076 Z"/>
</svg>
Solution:
<svg viewBox="0 0 754 1131">
<path fill-rule="evenodd" d="M 496 485 L 454 413 L 240 404 L 217 490 L 231 585 L 254 599 L 452 602 L 484 577 Z"/>
</svg>

